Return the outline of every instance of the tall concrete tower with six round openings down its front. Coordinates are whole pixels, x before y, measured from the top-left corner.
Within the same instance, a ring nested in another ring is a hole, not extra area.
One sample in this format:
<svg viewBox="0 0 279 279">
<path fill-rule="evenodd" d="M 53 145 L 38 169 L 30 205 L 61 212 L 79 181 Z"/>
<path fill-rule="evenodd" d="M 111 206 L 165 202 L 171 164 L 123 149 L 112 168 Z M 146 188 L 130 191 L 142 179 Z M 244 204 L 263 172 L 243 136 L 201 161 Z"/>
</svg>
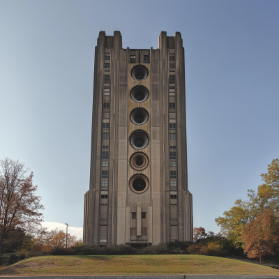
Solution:
<svg viewBox="0 0 279 279">
<path fill-rule="evenodd" d="M 193 241 L 187 176 L 181 33 L 135 50 L 122 48 L 119 31 L 100 31 L 84 245 Z"/>
</svg>

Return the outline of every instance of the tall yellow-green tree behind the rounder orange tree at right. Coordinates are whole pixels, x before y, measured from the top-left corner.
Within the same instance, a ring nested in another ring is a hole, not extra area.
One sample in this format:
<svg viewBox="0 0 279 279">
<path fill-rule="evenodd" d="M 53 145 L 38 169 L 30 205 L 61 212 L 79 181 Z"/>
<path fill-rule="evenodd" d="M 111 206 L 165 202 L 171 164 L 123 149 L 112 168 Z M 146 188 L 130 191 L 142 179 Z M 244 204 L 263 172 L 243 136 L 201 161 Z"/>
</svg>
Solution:
<svg viewBox="0 0 279 279">
<path fill-rule="evenodd" d="M 279 158 L 268 165 L 266 174 L 261 174 L 264 184 L 255 190 L 248 190 L 248 200 L 237 199 L 224 216 L 215 219 L 221 232 L 234 243 L 235 248 L 243 248 L 245 243 L 241 237 L 243 226 L 252 222 L 264 209 L 273 209 L 279 213 Z"/>
</svg>

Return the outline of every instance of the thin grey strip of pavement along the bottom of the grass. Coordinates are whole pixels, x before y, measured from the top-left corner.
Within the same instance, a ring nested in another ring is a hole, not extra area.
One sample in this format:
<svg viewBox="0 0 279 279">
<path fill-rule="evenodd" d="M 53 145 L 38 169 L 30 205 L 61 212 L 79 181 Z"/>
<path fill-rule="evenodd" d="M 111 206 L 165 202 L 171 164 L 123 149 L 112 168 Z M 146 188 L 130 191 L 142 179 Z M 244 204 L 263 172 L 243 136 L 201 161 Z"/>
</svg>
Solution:
<svg viewBox="0 0 279 279">
<path fill-rule="evenodd" d="M 0 276 L 1 279 L 279 279 L 266 275 Z"/>
</svg>

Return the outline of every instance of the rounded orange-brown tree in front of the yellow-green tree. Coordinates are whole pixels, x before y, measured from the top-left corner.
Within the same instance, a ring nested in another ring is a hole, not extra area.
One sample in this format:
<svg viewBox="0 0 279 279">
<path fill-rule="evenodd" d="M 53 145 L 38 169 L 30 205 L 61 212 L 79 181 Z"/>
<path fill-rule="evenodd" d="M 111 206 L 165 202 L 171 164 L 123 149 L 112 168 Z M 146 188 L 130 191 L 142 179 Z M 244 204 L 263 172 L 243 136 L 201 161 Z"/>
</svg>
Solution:
<svg viewBox="0 0 279 279">
<path fill-rule="evenodd" d="M 244 252 L 250 258 L 275 255 L 279 248 L 279 223 L 272 209 L 264 209 L 257 218 L 242 228 Z"/>
</svg>

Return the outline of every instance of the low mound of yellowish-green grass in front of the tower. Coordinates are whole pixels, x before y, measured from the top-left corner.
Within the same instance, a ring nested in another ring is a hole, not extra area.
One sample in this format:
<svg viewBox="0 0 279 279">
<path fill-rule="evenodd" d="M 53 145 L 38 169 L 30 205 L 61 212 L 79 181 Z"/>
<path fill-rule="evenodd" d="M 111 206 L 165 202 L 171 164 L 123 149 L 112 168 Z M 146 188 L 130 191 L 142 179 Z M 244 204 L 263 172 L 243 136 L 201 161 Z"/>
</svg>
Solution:
<svg viewBox="0 0 279 279">
<path fill-rule="evenodd" d="M 0 269 L 0 276 L 140 274 L 278 275 L 267 266 L 201 255 L 43 256 Z"/>
</svg>

